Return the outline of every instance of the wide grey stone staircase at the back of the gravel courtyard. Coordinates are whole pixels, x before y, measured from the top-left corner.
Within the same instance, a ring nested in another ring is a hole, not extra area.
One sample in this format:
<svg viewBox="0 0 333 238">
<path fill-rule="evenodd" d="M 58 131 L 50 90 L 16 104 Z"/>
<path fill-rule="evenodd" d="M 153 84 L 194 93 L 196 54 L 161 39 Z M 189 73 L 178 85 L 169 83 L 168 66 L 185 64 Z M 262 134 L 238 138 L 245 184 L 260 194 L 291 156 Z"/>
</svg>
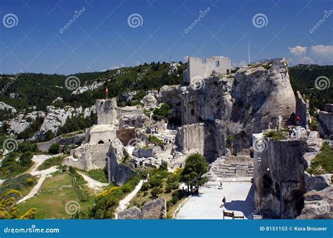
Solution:
<svg viewBox="0 0 333 238">
<path fill-rule="evenodd" d="M 219 158 L 211 164 L 207 173 L 210 181 L 218 181 L 223 178 L 253 177 L 253 163 L 231 162 L 226 164 L 225 162 L 225 159 Z"/>
</svg>

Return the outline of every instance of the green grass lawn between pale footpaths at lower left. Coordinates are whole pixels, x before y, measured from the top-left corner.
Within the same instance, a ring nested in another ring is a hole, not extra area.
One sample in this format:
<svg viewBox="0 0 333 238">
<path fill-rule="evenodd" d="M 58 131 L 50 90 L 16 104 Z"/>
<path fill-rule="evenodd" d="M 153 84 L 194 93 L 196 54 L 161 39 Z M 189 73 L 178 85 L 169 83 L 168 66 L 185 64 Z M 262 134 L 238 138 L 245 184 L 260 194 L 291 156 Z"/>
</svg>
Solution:
<svg viewBox="0 0 333 238">
<path fill-rule="evenodd" d="M 25 211 L 37 209 L 36 219 L 45 218 L 70 218 L 65 211 L 65 205 L 69 201 L 77 201 L 80 211 L 87 211 L 93 204 L 93 197 L 86 202 L 80 202 L 72 187 L 71 177 L 67 173 L 55 173 L 52 178 L 46 178 L 44 184 L 35 197 L 18 204 L 20 215 Z"/>
</svg>

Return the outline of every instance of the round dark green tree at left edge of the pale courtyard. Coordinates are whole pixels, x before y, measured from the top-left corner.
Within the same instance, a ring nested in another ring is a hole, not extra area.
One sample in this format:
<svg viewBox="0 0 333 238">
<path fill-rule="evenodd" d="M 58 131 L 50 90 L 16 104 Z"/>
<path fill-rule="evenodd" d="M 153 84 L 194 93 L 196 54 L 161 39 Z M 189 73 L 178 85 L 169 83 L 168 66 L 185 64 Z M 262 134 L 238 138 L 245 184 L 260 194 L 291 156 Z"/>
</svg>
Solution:
<svg viewBox="0 0 333 238">
<path fill-rule="evenodd" d="M 185 168 L 181 172 L 181 182 L 193 186 L 201 186 L 207 182 L 204 173 L 208 172 L 208 163 L 201 154 L 190 154 L 185 160 Z"/>
</svg>

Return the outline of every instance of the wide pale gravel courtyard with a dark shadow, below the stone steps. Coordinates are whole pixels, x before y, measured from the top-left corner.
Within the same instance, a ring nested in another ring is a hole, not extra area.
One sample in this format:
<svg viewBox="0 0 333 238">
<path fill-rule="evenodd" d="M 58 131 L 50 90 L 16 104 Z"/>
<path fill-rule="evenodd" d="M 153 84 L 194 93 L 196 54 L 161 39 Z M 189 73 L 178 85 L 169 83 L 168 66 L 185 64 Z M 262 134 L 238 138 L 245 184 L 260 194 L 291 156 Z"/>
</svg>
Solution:
<svg viewBox="0 0 333 238">
<path fill-rule="evenodd" d="M 221 206 L 223 196 L 226 197 L 225 207 Z M 247 218 L 254 212 L 253 197 L 252 183 L 224 182 L 222 190 L 215 183 L 201 187 L 200 196 L 192 196 L 185 201 L 176 214 L 176 219 L 223 219 L 223 209 Z"/>
</svg>

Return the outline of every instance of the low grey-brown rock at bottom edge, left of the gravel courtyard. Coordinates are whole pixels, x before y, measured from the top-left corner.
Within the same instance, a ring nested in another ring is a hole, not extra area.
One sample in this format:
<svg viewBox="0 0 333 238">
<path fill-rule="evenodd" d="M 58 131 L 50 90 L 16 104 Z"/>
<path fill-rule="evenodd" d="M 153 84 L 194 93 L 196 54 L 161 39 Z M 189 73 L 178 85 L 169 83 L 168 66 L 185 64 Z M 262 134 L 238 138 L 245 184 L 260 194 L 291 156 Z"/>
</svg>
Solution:
<svg viewBox="0 0 333 238">
<path fill-rule="evenodd" d="M 148 201 L 141 209 L 133 206 L 119 212 L 118 219 L 166 219 L 166 200 L 158 198 Z"/>
</svg>

